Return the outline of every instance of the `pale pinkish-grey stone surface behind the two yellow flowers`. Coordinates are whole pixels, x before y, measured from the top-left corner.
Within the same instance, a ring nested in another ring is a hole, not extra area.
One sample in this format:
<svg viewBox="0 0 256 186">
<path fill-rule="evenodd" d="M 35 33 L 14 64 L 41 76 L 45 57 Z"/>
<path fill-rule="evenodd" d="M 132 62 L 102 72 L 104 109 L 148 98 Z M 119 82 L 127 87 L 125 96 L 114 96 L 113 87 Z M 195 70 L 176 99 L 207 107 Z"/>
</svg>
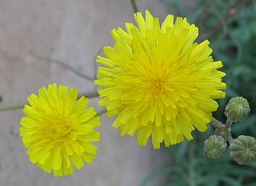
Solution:
<svg viewBox="0 0 256 186">
<path fill-rule="evenodd" d="M 151 10 L 160 20 L 166 14 L 158 1 L 139 0 L 138 6 L 142 11 Z M 35 55 L 65 61 L 93 76 L 95 54 L 102 46 L 113 44 L 109 32 L 124 22 L 133 22 L 128 0 L 1 0 L 1 104 L 24 102 L 30 93 L 52 82 L 80 92 L 94 89 L 92 82 Z M 90 105 L 97 105 L 97 101 Z M 22 116 L 21 110 L 0 113 L 1 186 L 139 185 L 150 171 L 168 162 L 164 149 L 156 151 L 150 143 L 138 148 L 135 139 L 119 137 L 111 127 L 113 120 L 102 116 L 98 129 L 102 140 L 93 164 L 72 176 L 54 178 L 28 160 L 18 135 Z"/>
</svg>

